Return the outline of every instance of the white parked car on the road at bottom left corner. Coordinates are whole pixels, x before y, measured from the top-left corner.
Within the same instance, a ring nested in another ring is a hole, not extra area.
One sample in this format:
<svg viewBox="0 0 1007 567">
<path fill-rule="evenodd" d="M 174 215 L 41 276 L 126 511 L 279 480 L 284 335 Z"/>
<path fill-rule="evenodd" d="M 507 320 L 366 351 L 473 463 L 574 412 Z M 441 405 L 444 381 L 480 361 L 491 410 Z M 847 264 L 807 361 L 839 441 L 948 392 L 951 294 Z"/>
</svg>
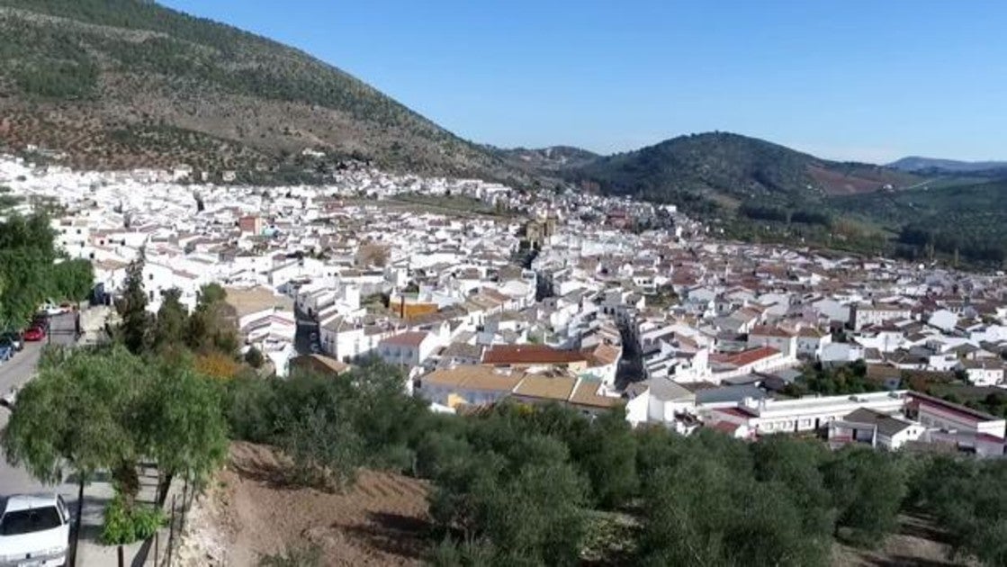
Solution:
<svg viewBox="0 0 1007 567">
<path fill-rule="evenodd" d="M 70 524 L 59 494 L 8 497 L 0 516 L 0 565 L 65 565 Z"/>
</svg>

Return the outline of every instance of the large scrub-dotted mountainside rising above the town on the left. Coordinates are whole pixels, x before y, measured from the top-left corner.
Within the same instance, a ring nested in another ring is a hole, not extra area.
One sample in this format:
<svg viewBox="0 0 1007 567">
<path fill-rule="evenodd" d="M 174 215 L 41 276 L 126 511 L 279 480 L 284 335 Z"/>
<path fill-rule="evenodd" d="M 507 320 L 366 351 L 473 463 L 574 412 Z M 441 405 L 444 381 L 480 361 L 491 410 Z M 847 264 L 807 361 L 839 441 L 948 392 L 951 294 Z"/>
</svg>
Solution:
<svg viewBox="0 0 1007 567">
<path fill-rule="evenodd" d="M 0 0 L 0 140 L 91 168 L 522 174 L 296 49 L 141 0 Z"/>
</svg>

